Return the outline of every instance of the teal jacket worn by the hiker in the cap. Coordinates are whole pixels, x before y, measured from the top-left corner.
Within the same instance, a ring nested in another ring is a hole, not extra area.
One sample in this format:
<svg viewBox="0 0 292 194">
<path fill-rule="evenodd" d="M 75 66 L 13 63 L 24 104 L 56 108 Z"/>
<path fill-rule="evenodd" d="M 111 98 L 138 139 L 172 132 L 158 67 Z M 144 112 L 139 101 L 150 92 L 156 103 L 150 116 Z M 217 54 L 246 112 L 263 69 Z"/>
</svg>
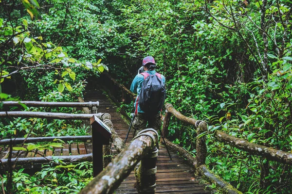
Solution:
<svg viewBox="0 0 292 194">
<path fill-rule="evenodd" d="M 150 75 L 154 75 L 156 73 L 155 70 L 152 70 L 152 71 L 146 71 L 147 73 L 149 73 Z M 161 75 L 161 78 L 162 78 L 162 81 L 164 82 L 165 84 L 165 77 L 163 75 Z M 142 111 L 140 109 L 140 106 L 139 106 L 139 102 L 137 101 L 138 97 L 139 97 L 139 94 L 140 94 L 140 91 L 141 91 L 141 88 L 142 88 L 142 84 L 144 82 L 144 76 L 142 74 L 138 74 L 136 75 L 136 77 L 134 78 L 132 84 L 131 84 L 131 92 L 135 93 L 135 94 L 138 94 L 137 98 L 136 98 L 136 101 L 134 102 L 134 107 L 136 109 L 136 104 L 138 103 L 138 109 L 137 109 L 137 112 L 138 113 L 144 113 L 144 111 Z"/>
</svg>

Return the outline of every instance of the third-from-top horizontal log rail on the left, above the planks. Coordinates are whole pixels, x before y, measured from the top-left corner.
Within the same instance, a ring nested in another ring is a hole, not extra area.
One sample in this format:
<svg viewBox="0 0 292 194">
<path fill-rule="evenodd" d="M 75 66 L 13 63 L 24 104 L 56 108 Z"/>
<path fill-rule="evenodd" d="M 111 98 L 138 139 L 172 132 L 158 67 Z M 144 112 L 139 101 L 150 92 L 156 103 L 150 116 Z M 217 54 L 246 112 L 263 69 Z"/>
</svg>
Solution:
<svg viewBox="0 0 292 194">
<path fill-rule="evenodd" d="M 17 145 L 17 144 L 22 144 L 22 143 L 52 142 L 55 139 L 60 139 L 63 141 L 72 141 L 72 140 L 87 141 L 87 140 L 91 140 L 91 135 L 3 139 L 3 140 L 0 140 L 0 146 L 10 145 L 10 144 Z"/>
</svg>

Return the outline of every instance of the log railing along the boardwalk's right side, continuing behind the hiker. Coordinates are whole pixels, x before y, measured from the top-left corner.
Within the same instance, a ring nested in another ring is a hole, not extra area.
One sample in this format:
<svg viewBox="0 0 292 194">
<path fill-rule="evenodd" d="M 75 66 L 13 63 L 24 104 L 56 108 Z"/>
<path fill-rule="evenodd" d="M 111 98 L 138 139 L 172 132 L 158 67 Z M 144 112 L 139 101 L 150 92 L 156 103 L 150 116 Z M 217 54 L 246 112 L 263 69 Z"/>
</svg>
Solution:
<svg viewBox="0 0 292 194">
<path fill-rule="evenodd" d="M 109 75 L 107 75 L 110 77 Z M 110 77 L 111 80 L 113 80 Z M 117 81 L 114 81 L 119 88 L 124 89 L 124 87 L 119 86 Z M 130 97 L 135 97 L 135 95 L 128 92 L 128 89 L 124 93 L 130 95 Z M 164 137 L 168 134 L 168 126 L 170 122 L 171 115 L 175 116 L 184 123 L 195 126 L 197 129 L 197 141 L 196 141 L 196 151 L 197 156 L 194 158 L 190 153 L 184 150 L 182 147 L 173 144 L 172 142 L 165 139 L 166 146 L 171 147 L 172 149 L 179 152 L 191 165 L 194 165 L 196 173 L 204 176 L 209 179 L 211 182 L 216 183 L 223 190 L 230 194 L 241 194 L 237 189 L 235 189 L 230 183 L 224 181 L 219 176 L 211 172 L 207 166 L 205 166 L 206 156 L 207 156 L 207 147 L 205 141 L 205 134 L 209 133 L 207 123 L 205 121 L 193 119 L 184 116 L 182 113 L 178 112 L 173 108 L 169 103 L 165 104 L 165 114 L 163 117 L 163 129 L 162 134 Z M 292 153 L 285 152 L 282 150 L 277 150 L 271 147 L 261 146 L 258 144 L 250 143 L 244 139 L 236 138 L 234 136 L 228 135 L 223 131 L 217 130 L 213 135 L 218 141 L 224 142 L 230 146 L 236 147 L 240 150 L 247 151 L 252 155 L 262 156 L 272 161 L 281 162 L 285 164 L 292 165 Z"/>
</svg>

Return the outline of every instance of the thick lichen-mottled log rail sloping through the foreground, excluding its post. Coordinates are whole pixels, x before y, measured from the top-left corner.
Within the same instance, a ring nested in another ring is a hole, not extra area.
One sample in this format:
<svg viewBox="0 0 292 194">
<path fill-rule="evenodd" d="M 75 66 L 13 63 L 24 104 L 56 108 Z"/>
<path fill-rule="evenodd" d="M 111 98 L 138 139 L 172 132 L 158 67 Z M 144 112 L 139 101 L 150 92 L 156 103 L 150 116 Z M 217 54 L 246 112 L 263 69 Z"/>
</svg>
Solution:
<svg viewBox="0 0 292 194">
<path fill-rule="evenodd" d="M 137 163 L 158 144 L 154 129 L 141 131 L 140 135 L 96 176 L 79 194 L 111 194 L 128 177 Z"/>
</svg>

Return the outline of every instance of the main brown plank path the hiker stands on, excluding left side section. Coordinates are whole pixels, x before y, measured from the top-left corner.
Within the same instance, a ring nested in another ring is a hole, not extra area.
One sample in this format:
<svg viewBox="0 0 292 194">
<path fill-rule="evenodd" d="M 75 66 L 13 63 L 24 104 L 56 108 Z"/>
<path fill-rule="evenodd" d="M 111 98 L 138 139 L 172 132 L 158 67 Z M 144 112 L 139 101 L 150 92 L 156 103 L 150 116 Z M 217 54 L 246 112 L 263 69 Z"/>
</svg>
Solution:
<svg viewBox="0 0 292 194">
<path fill-rule="evenodd" d="M 128 132 L 128 122 L 126 122 L 120 113 L 117 113 L 117 106 L 108 96 L 98 91 L 88 91 L 85 101 L 99 101 L 99 113 L 110 113 L 113 128 L 118 135 L 125 139 Z M 130 131 L 127 144 L 133 137 L 133 130 Z M 113 153 L 115 149 L 113 147 Z M 156 193 L 163 194 L 211 194 L 211 191 L 205 190 L 205 185 L 200 184 L 200 177 L 194 175 L 194 169 L 183 158 L 170 150 L 172 162 L 164 145 L 159 145 L 156 173 Z M 116 194 L 137 194 L 135 189 L 136 178 L 134 172 L 126 178 Z"/>
</svg>

